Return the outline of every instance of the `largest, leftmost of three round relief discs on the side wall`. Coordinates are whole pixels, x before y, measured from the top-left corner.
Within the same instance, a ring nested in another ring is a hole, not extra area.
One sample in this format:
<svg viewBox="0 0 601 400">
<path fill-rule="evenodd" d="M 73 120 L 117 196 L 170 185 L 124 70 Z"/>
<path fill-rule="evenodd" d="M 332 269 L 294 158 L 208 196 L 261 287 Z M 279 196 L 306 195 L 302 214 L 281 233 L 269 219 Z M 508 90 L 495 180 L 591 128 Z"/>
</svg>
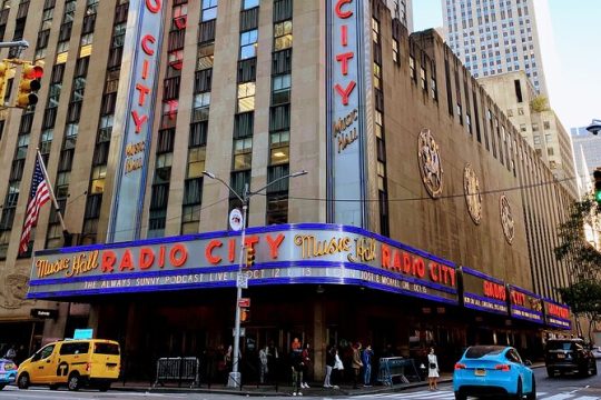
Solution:
<svg viewBox="0 0 601 400">
<path fill-rule="evenodd" d="M 441 164 L 441 150 L 430 133 L 430 129 L 422 129 L 417 139 L 417 158 L 422 182 L 433 199 L 442 194 L 443 169 Z"/>
</svg>

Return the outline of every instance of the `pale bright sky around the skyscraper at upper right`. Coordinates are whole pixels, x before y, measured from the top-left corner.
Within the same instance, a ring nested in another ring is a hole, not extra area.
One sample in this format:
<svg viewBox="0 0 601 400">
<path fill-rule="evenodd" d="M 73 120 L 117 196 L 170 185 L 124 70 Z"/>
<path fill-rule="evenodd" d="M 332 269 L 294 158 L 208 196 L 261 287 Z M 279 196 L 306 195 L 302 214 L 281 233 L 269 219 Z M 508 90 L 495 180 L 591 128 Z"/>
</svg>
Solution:
<svg viewBox="0 0 601 400">
<path fill-rule="evenodd" d="M 550 12 L 552 38 L 542 40 L 551 49 L 543 47 L 551 107 L 565 129 L 585 127 L 601 119 L 601 1 L 546 1 Z M 413 0 L 414 29 L 442 27 L 441 3 Z"/>
</svg>

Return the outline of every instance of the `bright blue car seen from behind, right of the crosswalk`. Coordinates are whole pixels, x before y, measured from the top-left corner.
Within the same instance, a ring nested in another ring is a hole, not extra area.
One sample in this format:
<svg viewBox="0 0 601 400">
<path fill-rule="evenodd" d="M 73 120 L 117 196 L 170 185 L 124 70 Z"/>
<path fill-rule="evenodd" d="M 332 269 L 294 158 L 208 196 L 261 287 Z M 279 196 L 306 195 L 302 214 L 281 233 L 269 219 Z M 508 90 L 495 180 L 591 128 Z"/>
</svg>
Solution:
<svg viewBox="0 0 601 400">
<path fill-rule="evenodd" d="M 453 390 L 456 400 L 477 398 L 536 399 L 534 373 L 530 361 L 504 346 L 472 346 L 455 364 Z"/>
</svg>

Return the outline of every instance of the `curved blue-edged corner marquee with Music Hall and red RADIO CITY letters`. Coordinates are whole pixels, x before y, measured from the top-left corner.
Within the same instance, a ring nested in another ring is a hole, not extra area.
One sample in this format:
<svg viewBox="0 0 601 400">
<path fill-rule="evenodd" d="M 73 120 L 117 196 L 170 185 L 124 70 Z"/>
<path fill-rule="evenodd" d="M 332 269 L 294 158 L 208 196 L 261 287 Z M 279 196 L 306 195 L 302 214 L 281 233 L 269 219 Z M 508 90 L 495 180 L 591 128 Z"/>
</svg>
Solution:
<svg viewBox="0 0 601 400">
<path fill-rule="evenodd" d="M 231 232 L 37 252 L 28 298 L 234 287 L 239 236 Z M 249 286 L 355 284 L 456 304 L 455 266 L 358 228 L 252 228 Z"/>
</svg>

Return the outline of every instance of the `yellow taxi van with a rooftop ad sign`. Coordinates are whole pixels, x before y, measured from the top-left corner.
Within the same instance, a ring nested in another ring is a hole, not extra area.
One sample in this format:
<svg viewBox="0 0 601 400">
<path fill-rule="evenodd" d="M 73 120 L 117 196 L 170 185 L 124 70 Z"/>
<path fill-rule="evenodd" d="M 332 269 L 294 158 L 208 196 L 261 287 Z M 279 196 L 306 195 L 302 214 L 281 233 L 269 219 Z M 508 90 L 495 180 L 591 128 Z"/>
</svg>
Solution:
<svg viewBox="0 0 601 400">
<path fill-rule="evenodd" d="M 27 389 L 46 384 L 50 389 L 67 386 L 78 390 L 83 386 L 107 391 L 119 378 L 121 356 L 119 343 L 112 340 L 61 340 L 49 343 L 21 362 L 17 386 Z"/>
</svg>

